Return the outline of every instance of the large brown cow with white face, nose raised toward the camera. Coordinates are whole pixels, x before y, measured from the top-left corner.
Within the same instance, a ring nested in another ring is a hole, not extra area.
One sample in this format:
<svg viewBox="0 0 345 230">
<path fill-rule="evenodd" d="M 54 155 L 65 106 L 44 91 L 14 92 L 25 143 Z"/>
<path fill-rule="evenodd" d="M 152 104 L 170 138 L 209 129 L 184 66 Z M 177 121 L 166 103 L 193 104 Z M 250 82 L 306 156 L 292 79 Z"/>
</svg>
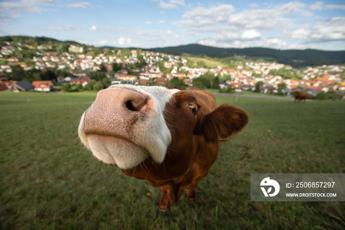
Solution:
<svg viewBox="0 0 345 230">
<path fill-rule="evenodd" d="M 81 116 L 81 142 L 104 164 L 160 187 L 160 213 L 196 188 L 219 152 L 219 143 L 239 132 L 248 115 L 232 105 L 217 106 L 203 90 L 112 85 L 98 92 Z"/>
</svg>

